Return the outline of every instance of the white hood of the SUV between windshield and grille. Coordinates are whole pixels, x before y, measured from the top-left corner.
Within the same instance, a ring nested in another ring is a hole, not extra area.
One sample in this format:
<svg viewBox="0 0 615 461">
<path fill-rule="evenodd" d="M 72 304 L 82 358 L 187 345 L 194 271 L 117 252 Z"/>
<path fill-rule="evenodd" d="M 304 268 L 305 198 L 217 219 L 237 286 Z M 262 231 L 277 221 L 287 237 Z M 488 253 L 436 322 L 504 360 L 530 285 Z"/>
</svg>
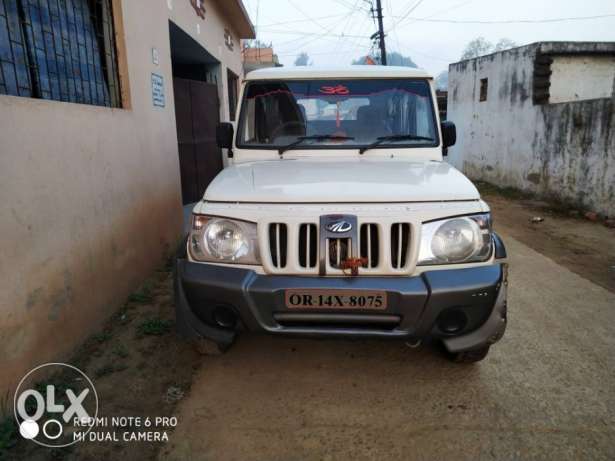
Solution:
<svg viewBox="0 0 615 461">
<path fill-rule="evenodd" d="M 277 160 L 223 170 L 205 200 L 357 203 L 477 200 L 474 185 L 445 162 Z"/>
</svg>

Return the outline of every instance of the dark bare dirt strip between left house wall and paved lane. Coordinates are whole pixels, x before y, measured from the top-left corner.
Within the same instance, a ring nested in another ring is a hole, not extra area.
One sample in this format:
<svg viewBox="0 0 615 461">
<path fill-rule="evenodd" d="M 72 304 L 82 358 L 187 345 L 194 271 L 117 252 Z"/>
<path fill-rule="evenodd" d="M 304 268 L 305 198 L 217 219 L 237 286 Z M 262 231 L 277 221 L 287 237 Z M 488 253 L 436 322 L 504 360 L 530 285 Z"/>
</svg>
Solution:
<svg viewBox="0 0 615 461">
<path fill-rule="evenodd" d="M 68 363 L 94 382 L 99 417 L 172 416 L 190 391 L 202 357 L 174 334 L 173 280 L 170 265 L 156 272 L 105 328 Z M 118 436 L 121 434 L 118 431 Z M 63 449 L 41 448 L 18 440 L 4 453 L 15 460 L 147 460 L 161 442 L 87 442 Z M 0 459 L 3 455 L 0 451 Z"/>
</svg>

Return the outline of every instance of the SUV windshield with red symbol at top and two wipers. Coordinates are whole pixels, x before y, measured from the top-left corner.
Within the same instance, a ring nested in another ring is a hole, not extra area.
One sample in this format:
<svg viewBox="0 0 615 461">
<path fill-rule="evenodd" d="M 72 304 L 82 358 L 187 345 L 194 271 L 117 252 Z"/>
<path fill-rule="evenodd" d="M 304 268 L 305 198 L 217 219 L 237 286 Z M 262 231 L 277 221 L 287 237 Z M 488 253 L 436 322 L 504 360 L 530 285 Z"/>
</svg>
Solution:
<svg viewBox="0 0 615 461">
<path fill-rule="evenodd" d="M 255 81 L 244 92 L 238 146 L 277 149 L 304 138 L 296 148 L 430 147 L 435 120 L 427 80 Z"/>
</svg>

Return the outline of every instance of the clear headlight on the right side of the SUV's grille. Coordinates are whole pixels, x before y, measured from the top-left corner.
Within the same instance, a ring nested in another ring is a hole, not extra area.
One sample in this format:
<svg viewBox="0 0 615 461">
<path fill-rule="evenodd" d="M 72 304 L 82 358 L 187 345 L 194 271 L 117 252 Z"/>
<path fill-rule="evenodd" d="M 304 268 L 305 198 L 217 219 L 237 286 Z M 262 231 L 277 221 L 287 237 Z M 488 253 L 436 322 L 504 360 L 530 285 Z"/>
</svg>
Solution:
<svg viewBox="0 0 615 461">
<path fill-rule="evenodd" d="M 486 261 L 491 256 L 489 213 L 425 223 L 419 265 Z"/>
</svg>

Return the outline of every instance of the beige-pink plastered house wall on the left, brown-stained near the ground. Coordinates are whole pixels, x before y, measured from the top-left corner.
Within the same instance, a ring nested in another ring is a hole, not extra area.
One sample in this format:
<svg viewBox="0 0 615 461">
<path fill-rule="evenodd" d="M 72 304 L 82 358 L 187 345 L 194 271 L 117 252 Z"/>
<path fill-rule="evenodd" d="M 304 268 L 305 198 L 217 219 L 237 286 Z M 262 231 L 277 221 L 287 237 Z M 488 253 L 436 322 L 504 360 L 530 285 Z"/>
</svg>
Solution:
<svg viewBox="0 0 615 461">
<path fill-rule="evenodd" d="M 189 0 L 121 1 L 128 109 L 0 95 L 0 397 L 33 366 L 68 358 L 177 243 L 169 18 L 222 61 L 222 119 L 226 66 L 241 73 L 239 38 L 229 51 L 228 18 L 206 9 L 202 20 Z"/>
</svg>

